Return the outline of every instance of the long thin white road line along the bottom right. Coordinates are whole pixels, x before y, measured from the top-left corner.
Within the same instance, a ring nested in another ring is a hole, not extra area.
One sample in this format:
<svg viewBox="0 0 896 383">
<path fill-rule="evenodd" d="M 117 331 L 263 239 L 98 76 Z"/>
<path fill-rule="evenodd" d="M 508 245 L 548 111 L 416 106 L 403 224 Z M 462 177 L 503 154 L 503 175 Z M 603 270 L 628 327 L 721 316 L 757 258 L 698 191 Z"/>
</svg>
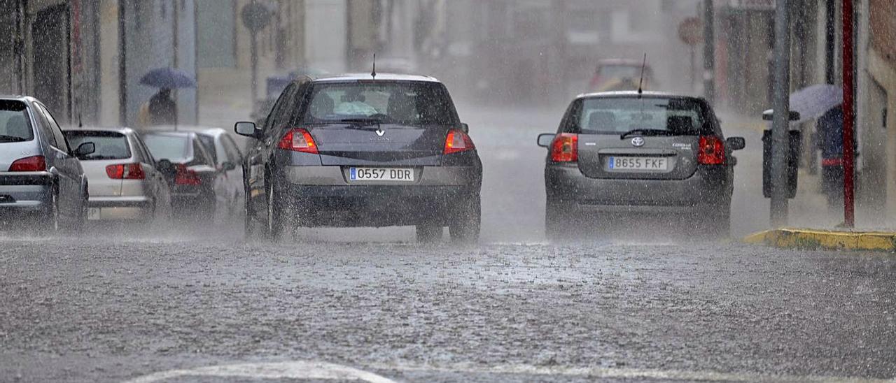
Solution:
<svg viewBox="0 0 896 383">
<path fill-rule="evenodd" d="M 594 379 L 664 379 L 682 381 L 734 381 L 734 382 L 855 382 L 855 383 L 896 383 L 896 379 L 866 379 L 854 377 L 823 377 L 823 376 L 789 376 L 789 375 L 763 375 L 733 372 L 715 371 L 685 371 L 685 370 L 647 370 L 647 369 L 620 369 L 604 367 L 538 367 L 526 364 L 509 364 L 497 366 L 478 366 L 475 364 L 450 364 L 438 366 L 410 366 L 410 365 L 366 365 L 372 370 L 397 370 L 415 372 L 461 372 L 471 374 L 520 374 L 520 375 L 563 375 L 586 377 Z"/>
</svg>

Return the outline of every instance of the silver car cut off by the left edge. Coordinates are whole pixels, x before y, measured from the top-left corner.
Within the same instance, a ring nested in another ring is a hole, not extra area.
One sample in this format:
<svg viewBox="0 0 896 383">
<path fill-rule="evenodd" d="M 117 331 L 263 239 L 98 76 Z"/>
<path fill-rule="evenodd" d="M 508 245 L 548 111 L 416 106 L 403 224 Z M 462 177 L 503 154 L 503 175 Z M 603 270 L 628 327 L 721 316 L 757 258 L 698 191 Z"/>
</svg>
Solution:
<svg viewBox="0 0 896 383">
<path fill-rule="evenodd" d="M 47 106 L 30 97 L 0 98 L 0 220 L 26 218 L 48 232 L 80 228 L 88 183 L 78 157 Z"/>
</svg>

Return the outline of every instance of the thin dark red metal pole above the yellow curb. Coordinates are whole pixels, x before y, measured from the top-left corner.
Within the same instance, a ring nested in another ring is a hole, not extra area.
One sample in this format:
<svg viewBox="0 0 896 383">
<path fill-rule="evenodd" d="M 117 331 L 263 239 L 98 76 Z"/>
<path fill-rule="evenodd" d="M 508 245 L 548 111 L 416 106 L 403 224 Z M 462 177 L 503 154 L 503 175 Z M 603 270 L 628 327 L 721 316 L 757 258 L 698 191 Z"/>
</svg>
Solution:
<svg viewBox="0 0 896 383">
<path fill-rule="evenodd" d="M 843 0 L 843 226 L 856 226 L 853 132 L 856 123 L 854 109 L 856 78 L 853 65 L 853 3 Z"/>
</svg>

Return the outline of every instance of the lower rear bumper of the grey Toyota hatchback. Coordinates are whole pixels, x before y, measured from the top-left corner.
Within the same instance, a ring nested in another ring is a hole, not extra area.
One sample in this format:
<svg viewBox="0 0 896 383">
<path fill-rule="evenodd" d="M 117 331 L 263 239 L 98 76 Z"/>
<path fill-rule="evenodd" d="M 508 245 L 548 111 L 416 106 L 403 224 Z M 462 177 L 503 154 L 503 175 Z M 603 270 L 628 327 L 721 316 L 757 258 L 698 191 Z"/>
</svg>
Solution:
<svg viewBox="0 0 896 383">
<path fill-rule="evenodd" d="M 577 166 L 545 168 L 548 199 L 573 202 L 582 209 L 616 212 L 688 212 L 727 206 L 733 191 L 726 166 L 701 166 L 682 180 L 589 178 Z"/>
</svg>

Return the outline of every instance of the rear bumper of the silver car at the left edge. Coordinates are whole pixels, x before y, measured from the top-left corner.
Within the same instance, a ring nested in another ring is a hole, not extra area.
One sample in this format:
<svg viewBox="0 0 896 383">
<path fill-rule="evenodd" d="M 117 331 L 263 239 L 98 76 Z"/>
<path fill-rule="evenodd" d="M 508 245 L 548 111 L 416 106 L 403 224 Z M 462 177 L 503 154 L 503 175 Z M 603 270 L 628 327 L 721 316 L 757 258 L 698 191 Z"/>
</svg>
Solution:
<svg viewBox="0 0 896 383">
<path fill-rule="evenodd" d="M 46 209 L 53 180 L 48 172 L 0 172 L 0 211 Z"/>
</svg>

